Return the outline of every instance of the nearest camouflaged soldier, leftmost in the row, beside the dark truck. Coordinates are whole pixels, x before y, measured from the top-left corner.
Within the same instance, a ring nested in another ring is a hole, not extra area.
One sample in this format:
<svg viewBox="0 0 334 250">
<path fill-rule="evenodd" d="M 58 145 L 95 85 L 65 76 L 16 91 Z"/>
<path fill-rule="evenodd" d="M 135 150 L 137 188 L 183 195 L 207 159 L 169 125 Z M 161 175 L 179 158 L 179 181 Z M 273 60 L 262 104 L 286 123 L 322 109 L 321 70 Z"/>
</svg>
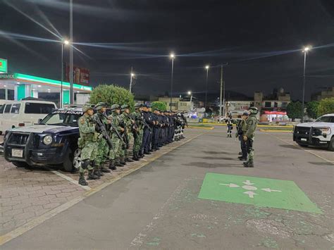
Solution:
<svg viewBox="0 0 334 250">
<path fill-rule="evenodd" d="M 97 157 L 97 138 L 99 137 L 99 127 L 92 122 L 91 118 L 94 114 L 94 105 L 85 104 L 82 107 L 84 115 L 78 120 L 80 138 L 78 139 L 78 146 L 81 149 L 81 164 L 79 168 L 79 184 L 87 186 L 85 180 L 85 172 L 88 171 L 87 180 L 97 180 L 99 176 L 94 175 L 95 158 Z"/>
</svg>

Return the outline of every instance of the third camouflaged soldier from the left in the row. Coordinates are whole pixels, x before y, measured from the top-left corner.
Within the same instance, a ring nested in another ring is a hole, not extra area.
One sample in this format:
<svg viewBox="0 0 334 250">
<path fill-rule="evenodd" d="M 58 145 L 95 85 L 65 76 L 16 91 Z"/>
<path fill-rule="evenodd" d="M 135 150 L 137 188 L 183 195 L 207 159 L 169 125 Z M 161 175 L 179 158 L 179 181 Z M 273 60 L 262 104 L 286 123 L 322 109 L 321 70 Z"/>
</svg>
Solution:
<svg viewBox="0 0 334 250">
<path fill-rule="evenodd" d="M 118 137 L 115 130 L 117 130 L 118 133 L 124 132 L 123 127 L 120 127 L 120 106 L 118 104 L 113 104 L 111 106 L 111 115 L 109 115 L 109 120 L 111 120 L 111 141 L 113 142 L 113 149 L 109 151 L 109 158 L 110 158 L 110 164 L 109 168 L 111 170 L 116 169 L 116 166 L 123 167 L 124 164 L 120 163 L 120 153 L 121 153 L 121 147 L 122 142 L 120 141 L 120 138 Z"/>
</svg>

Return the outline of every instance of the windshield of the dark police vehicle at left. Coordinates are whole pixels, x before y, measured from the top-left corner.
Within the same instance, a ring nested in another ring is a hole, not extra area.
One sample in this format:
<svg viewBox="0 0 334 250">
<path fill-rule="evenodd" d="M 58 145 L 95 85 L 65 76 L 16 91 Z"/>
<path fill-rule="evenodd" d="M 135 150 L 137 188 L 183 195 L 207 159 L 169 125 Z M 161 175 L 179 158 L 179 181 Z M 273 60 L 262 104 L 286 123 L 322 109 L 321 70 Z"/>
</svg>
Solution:
<svg viewBox="0 0 334 250">
<path fill-rule="evenodd" d="M 49 113 L 39 124 L 78 127 L 81 111 L 55 111 Z"/>
</svg>

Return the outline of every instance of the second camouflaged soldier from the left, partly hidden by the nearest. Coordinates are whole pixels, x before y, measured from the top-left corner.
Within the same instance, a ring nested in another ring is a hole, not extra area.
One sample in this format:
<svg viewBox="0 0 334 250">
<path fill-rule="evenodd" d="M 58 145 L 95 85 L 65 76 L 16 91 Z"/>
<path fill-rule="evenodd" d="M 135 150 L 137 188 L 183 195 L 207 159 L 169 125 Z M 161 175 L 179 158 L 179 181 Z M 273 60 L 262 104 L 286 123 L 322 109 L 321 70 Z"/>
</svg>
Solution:
<svg viewBox="0 0 334 250">
<path fill-rule="evenodd" d="M 104 102 L 99 102 L 95 106 L 95 110 L 97 111 L 97 113 L 94 114 L 94 116 L 98 118 L 102 124 L 104 124 L 106 130 L 109 129 L 109 125 L 111 123 L 110 120 L 107 119 L 105 114 L 107 106 L 108 104 Z M 98 142 L 97 158 L 95 159 L 97 167 L 94 170 L 94 173 L 96 175 L 103 176 L 103 173 L 111 173 L 111 170 L 105 168 L 104 166 L 101 166 L 107 160 L 106 156 L 108 156 L 109 153 L 109 145 L 106 142 L 106 139 L 104 139 L 104 137 L 99 138 L 97 142 Z"/>
</svg>

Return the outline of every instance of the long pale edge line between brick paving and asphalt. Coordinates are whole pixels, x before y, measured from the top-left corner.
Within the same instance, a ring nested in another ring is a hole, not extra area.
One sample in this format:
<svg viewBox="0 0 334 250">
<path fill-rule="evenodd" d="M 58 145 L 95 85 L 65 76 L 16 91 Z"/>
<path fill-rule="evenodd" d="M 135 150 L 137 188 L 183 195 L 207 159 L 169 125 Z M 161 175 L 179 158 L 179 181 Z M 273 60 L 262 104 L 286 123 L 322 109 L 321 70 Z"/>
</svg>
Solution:
<svg viewBox="0 0 334 250">
<path fill-rule="evenodd" d="M 193 139 L 196 139 L 197 137 L 199 137 L 201 135 L 204 135 L 204 134 L 206 134 L 206 132 L 203 132 L 202 134 L 199 134 L 199 135 L 197 135 L 195 137 L 192 137 L 190 139 L 187 139 L 187 141 L 185 141 L 182 144 L 176 146 L 175 149 L 178 148 L 179 146 L 183 146 L 184 144 L 186 144 L 188 142 L 191 142 Z M 170 151 L 163 152 L 162 154 L 158 154 L 158 155 L 150 158 L 146 162 L 143 162 L 141 165 L 138 165 L 135 168 L 131 168 L 130 170 L 126 170 L 123 173 L 120 173 L 120 175 L 111 179 L 109 182 L 105 182 L 105 183 L 99 185 L 98 187 L 90 189 L 87 192 L 85 192 L 84 194 L 76 197 L 75 199 L 72 199 L 72 200 L 66 202 L 65 204 L 62 204 L 61 206 L 58 206 L 58 207 L 52 209 L 51 211 L 42 214 L 41 216 L 35 218 L 34 220 L 31 220 L 30 222 L 25 223 L 24 225 L 16 228 L 15 230 L 12 230 L 11 232 L 6 233 L 5 235 L 1 235 L 0 236 L 0 246 L 5 244 L 6 242 L 11 241 L 12 239 L 15 239 L 16 237 L 19 237 L 20 235 L 23 235 L 25 232 L 27 232 L 29 230 L 32 230 L 34 227 L 37 227 L 38 225 L 44 223 L 44 221 L 49 220 L 50 218 L 54 217 L 58 213 L 66 211 L 68 208 L 74 206 L 75 204 L 78 204 L 80 201 L 86 199 L 87 197 L 91 196 L 92 194 L 95 194 L 95 193 L 101 191 L 101 189 L 104 189 L 105 187 L 108 187 L 109 185 L 113 184 L 114 182 L 117 182 L 118 180 L 122 179 L 123 177 L 125 177 L 127 175 L 130 175 L 130 173 L 135 172 L 136 170 L 144 167 L 145 165 L 148 165 L 152 161 L 156 160 L 157 158 L 160 158 L 161 156 L 163 156 L 165 154 L 168 154 L 171 151 L 173 151 L 173 149 L 171 149 Z"/>
</svg>

